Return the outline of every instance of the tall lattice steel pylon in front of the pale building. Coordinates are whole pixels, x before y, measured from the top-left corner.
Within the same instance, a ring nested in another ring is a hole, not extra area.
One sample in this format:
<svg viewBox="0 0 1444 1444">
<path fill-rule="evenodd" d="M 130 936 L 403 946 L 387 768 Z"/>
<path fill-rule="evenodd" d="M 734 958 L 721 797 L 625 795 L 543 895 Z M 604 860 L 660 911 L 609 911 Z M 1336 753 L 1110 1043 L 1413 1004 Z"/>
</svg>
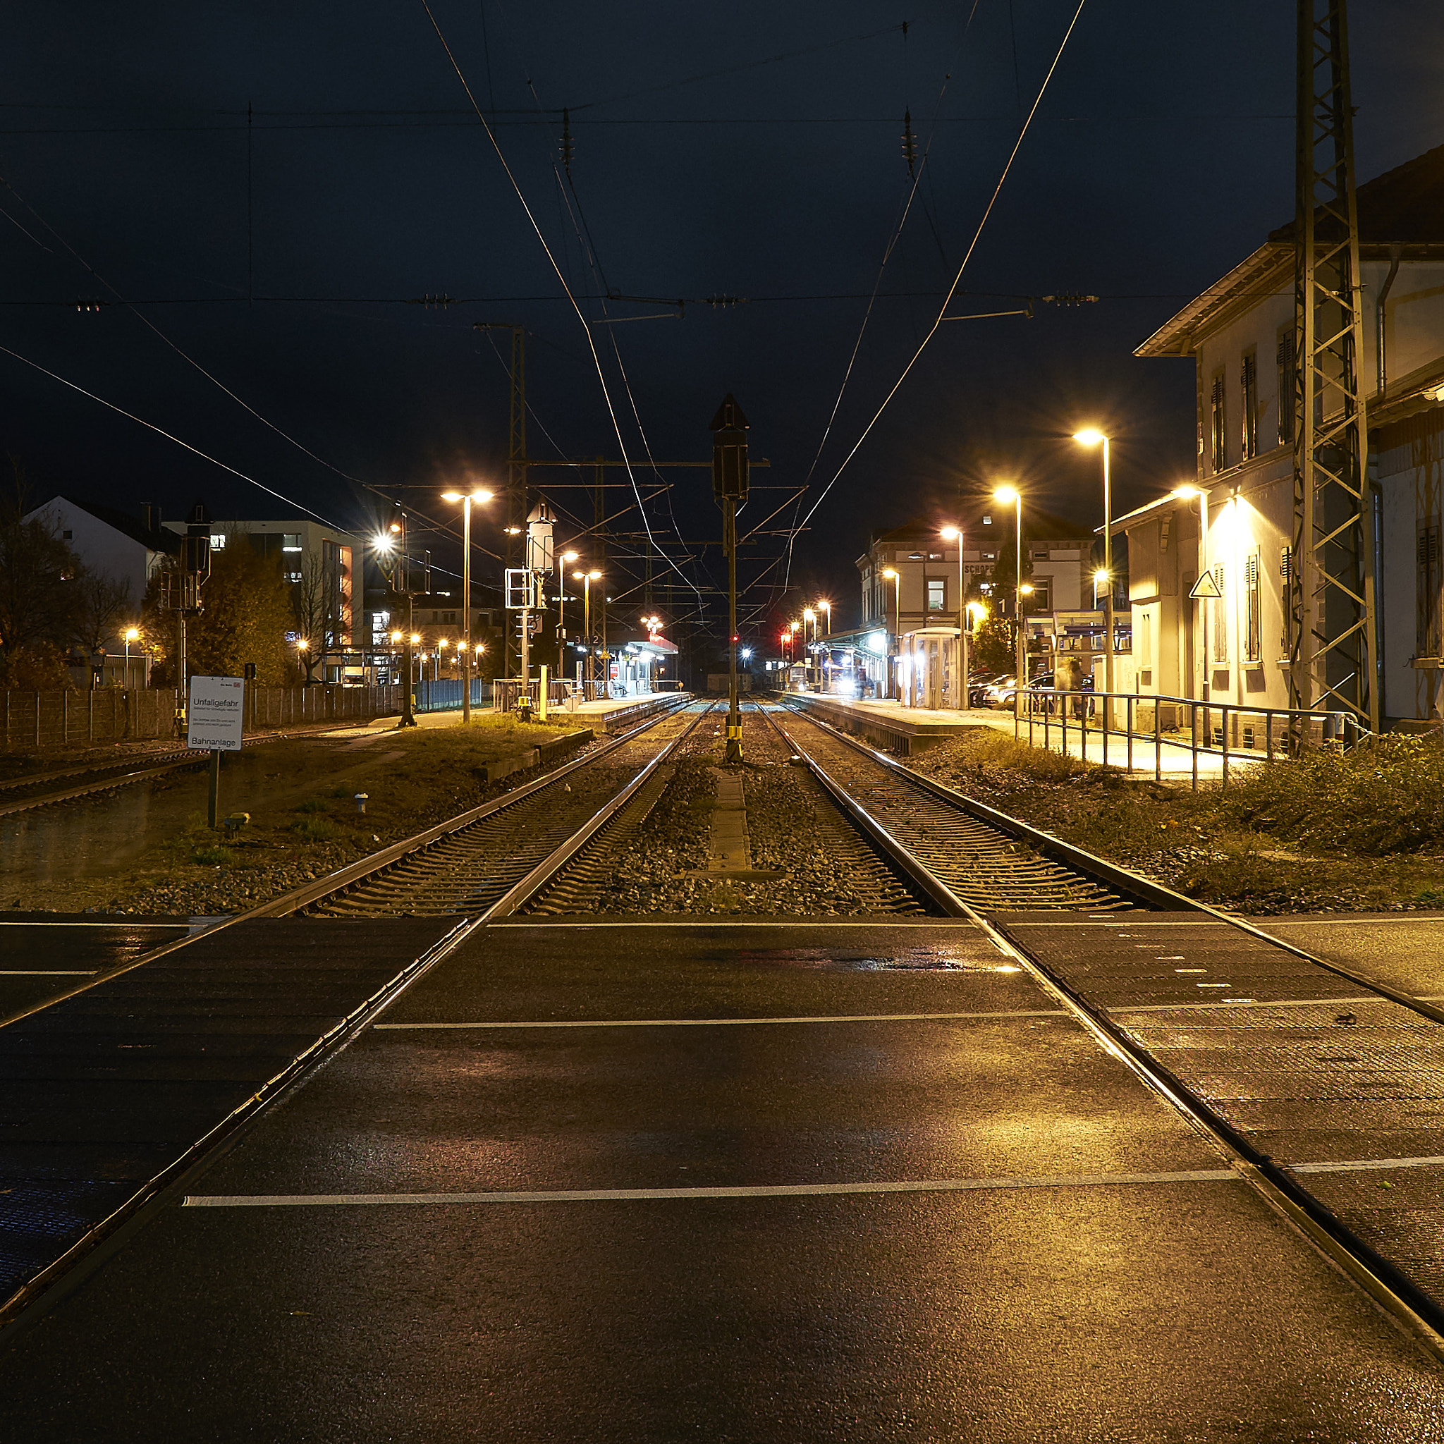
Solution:
<svg viewBox="0 0 1444 1444">
<path fill-rule="evenodd" d="M 1298 0 L 1289 702 L 1379 729 L 1344 0 Z"/>
</svg>

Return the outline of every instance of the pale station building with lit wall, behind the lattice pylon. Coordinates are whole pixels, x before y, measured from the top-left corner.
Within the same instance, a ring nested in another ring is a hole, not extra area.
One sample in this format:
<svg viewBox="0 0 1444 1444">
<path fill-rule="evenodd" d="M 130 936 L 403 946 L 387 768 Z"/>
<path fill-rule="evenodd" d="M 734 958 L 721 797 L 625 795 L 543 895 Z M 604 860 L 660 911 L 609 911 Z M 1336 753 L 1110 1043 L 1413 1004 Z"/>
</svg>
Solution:
<svg viewBox="0 0 1444 1444">
<path fill-rule="evenodd" d="M 1360 375 L 1376 488 L 1382 713 L 1440 716 L 1444 656 L 1444 147 L 1359 186 Z M 1144 693 L 1288 706 L 1294 244 L 1275 231 L 1135 352 L 1187 357 L 1197 474 L 1116 521 Z M 1212 570 L 1222 596 L 1188 593 Z"/>
</svg>

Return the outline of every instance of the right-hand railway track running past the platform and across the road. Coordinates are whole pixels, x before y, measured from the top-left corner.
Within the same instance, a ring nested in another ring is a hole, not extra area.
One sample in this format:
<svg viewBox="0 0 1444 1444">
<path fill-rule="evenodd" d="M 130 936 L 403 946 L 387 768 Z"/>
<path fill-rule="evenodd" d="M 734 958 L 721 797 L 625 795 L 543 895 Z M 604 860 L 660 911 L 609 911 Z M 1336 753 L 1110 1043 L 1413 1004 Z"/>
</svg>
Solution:
<svg viewBox="0 0 1444 1444">
<path fill-rule="evenodd" d="M 941 911 L 988 933 L 1444 1363 L 1435 1222 L 1444 1158 L 1399 1147 L 1437 1139 L 1444 1009 L 1048 839 L 786 710 L 783 735 L 884 855 Z M 1037 892 L 1015 879 L 1031 879 Z M 1190 966 L 1160 966 L 1175 963 Z M 1225 970 L 1230 980 L 1214 980 Z M 1200 975 L 1206 980 L 1193 982 Z M 1223 992 L 1190 993 L 1190 982 Z M 1320 1148 L 1333 1161 L 1310 1157 Z M 1382 1181 L 1360 1187 L 1360 1175 Z M 1376 1190 L 1409 1186 L 1408 1203 L 1380 1207 Z"/>
</svg>

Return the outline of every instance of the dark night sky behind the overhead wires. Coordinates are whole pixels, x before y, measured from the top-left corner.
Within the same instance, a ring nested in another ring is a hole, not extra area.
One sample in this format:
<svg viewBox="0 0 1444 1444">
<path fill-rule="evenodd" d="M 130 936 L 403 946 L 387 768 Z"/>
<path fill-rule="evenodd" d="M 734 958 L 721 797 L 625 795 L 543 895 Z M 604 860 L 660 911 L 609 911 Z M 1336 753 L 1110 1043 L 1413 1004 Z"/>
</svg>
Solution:
<svg viewBox="0 0 1444 1444">
<path fill-rule="evenodd" d="M 618 456 L 586 329 L 422 0 L 25 9 L 0 48 L 0 345 L 289 503 L 0 354 L 0 440 L 40 491 L 362 529 L 384 505 L 365 482 L 445 520 L 435 491 L 505 474 L 508 338 L 475 321 L 529 331 L 533 456 Z M 765 530 L 817 503 L 937 315 L 1076 9 L 433 0 L 583 315 L 657 318 L 592 326 L 638 484 L 648 445 L 709 456 L 731 390 L 773 462 L 754 482 L 810 478 Z M 946 520 L 995 478 L 1097 524 L 1080 425 L 1116 438 L 1118 510 L 1191 475 L 1191 368 L 1131 352 L 1292 215 L 1294 9 L 1084 0 L 952 312 L 1102 299 L 941 326 L 790 562 L 786 537 L 757 539 L 744 576 L 794 586 L 771 615 L 823 592 L 846 624 L 871 530 Z M 1444 6 L 1354 0 L 1350 27 L 1367 179 L 1444 143 Z M 684 297 L 684 316 L 608 289 Z M 427 295 L 458 303 L 409 303 Z M 669 479 L 650 524 L 696 554 L 719 533 L 708 474 Z M 742 529 L 787 495 L 757 491 Z M 552 497 L 591 521 L 586 492 Z M 725 575 L 715 547 L 682 572 Z M 754 580 L 747 602 L 768 596 Z"/>
</svg>

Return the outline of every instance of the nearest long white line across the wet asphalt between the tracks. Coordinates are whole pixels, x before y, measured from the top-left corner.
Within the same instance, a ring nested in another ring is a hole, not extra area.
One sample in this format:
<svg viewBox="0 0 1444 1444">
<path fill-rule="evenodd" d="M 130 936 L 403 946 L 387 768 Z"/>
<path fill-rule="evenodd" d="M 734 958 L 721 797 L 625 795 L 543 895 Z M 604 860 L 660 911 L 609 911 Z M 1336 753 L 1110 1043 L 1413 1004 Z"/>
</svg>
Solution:
<svg viewBox="0 0 1444 1444">
<path fill-rule="evenodd" d="M 1041 1178 L 921 1178 L 905 1183 L 778 1183 L 718 1188 L 550 1188 L 536 1193 L 201 1193 L 185 1209 L 325 1209 L 386 1203 L 596 1203 L 634 1199 L 809 1199 L 848 1193 L 973 1193 L 992 1188 L 1092 1188 L 1147 1183 L 1242 1183 L 1232 1168 Z"/>
</svg>

